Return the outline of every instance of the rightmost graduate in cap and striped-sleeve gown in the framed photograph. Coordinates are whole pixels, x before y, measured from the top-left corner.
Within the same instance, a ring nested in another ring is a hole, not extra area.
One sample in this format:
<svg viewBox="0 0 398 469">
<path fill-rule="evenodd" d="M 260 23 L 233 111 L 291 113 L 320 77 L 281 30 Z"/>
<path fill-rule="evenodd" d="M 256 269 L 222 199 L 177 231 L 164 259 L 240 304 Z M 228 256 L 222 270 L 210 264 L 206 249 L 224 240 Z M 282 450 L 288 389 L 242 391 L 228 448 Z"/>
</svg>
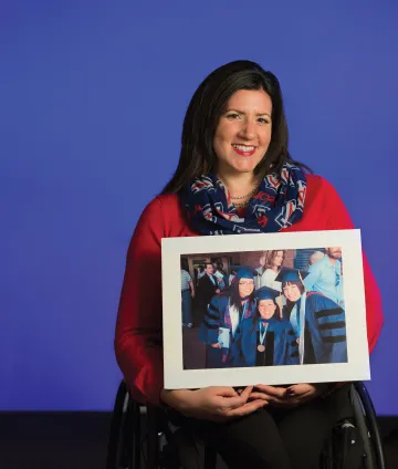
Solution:
<svg viewBox="0 0 398 469">
<path fill-rule="evenodd" d="M 303 283 L 306 275 L 306 272 L 283 267 L 275 279 L 282 282 L 287 300 L 284 316 L 295 332 L 300 363 L 346 363 L 345 312 L 322 293 L 306 292 Z"/>
</svg>

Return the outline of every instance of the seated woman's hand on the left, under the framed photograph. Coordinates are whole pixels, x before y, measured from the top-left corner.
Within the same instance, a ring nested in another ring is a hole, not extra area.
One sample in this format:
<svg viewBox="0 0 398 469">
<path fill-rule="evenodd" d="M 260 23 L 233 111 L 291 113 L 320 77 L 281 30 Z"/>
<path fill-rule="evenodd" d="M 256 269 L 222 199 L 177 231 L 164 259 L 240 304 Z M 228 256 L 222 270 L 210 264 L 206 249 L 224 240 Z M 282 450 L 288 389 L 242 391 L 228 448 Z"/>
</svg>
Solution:
<svg viewBox="0 0 398 469">
<path fill-rule="evenodd" d="M 247 387 L 238 394 L 232 387 L 205 387 L 202 389 L 174 389 L 161 392 L 161 400 L 187 417 L 226 421 L 231 418 L 243 417 L 264 407 L 266 399 L 249 396 L 253 386 Z"/>
</svg>

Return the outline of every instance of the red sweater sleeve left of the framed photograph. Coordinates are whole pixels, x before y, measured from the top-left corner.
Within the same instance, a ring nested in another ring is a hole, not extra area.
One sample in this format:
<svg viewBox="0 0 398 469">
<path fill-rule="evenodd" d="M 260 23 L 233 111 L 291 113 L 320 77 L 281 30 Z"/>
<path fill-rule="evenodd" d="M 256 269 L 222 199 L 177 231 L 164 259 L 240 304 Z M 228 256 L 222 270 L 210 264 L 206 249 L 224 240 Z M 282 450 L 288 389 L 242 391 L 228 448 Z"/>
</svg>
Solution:
<svg viewBox="0 0 398 469">
<path fill-rule="evenodd" d="M 127 252 L 115 333 L 115 353 L 135 399 L 158 404 L 161 352 L 161 201 L 143 211 Z"/>
</svg>

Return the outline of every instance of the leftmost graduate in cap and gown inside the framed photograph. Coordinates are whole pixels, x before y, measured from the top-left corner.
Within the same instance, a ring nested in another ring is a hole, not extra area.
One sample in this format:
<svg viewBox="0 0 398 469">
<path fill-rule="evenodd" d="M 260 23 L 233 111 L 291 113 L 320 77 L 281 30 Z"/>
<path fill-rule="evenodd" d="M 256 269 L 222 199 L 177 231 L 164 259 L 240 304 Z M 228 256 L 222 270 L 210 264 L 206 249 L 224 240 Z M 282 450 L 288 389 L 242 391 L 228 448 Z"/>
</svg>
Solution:
<svg viewBox="0 0 398 469">
<path fill-rule="evenodd" d="M 200 340 L 208 345 L 207 368 L 226 366 L 230 347 L 241 333 L 240 324 L 253 316 L 254 274 L 253 269 L 239 269 L 231 288 L 210 301 L 200 327 Z"/>
</svg>

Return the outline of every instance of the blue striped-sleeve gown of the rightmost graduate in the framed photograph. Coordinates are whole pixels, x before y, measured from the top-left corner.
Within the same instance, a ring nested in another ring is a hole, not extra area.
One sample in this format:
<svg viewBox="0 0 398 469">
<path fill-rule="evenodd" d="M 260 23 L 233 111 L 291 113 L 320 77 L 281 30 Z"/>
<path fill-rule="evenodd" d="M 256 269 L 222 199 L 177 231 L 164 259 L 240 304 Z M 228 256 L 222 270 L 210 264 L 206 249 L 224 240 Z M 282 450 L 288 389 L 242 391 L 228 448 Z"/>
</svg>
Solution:
<svg viewBox="0 0 398 469">
<path fill-rule="evenodd" d="M 301 321 L 303 301 L 305 313 Z M 345 312 L 333 300 L 318 292 L 304 293 L 292 310 L 290 322 L 296 337 L 304 340 L 298 345 L 301 363 L 347 362 Z"/>
</svg>

